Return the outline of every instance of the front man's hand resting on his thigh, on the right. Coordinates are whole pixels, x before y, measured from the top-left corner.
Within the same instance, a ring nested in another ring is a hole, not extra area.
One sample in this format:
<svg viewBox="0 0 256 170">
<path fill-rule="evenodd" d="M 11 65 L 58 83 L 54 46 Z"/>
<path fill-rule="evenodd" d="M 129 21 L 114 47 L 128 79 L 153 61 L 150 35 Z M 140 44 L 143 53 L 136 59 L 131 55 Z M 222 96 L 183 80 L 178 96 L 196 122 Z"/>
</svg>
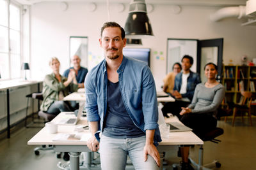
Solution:
<svg viewBox="0 0 256 170">
<path fill-rule="evenodd" d="M 160 167 L 160 155 L 156 146 L 152 143 L 144 146 L 144 161 L 146 162 L 148 159 L 148 155 L 150 155 L 155 161 L 158 167 Z"/>
</svg>

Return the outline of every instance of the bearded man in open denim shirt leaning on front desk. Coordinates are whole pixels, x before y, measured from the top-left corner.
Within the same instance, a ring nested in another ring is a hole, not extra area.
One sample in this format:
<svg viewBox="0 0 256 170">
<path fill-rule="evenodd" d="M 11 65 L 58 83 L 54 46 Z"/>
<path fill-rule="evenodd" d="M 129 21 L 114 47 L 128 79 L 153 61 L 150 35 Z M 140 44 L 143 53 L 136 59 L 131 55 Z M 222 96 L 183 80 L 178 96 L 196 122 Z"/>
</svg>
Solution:
<svg viewBox="0 0 256 170">
<path fill-rule="evenodd" d="M 99 41 L 105 59 L 84 83 L 92 132 L 87 146 L 100 149 L 102 169 L 125 169 L 127 155 L 135 169 L 158 169 L 161 137 L 152 73 L 145 62 L 123 56 L 125 32 L 117 23 L 106 22 Z"/>
</svg>

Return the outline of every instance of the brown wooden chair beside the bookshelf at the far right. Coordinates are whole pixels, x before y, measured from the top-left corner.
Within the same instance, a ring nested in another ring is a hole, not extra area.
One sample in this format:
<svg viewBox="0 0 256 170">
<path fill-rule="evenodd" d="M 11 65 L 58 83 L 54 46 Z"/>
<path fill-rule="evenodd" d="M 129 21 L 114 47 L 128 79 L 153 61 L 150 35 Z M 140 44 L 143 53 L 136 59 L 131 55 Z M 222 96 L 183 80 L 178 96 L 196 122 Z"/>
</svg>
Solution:
<svg viewBox="0 0 256 170">
<path fill-rule="evenodd" d="M 241 100 L 238 104 L 235 104 L 232 118 L 232 126 L 234 127 L 235 118 L 238 113 L 241 114 L 242 122 L 244 122 L 243 114 L 248 113 L 248 118 L 250 120 L 250 125 L 252 126 L 252 117 L 251 117 L 251 103 L 252 103 L 252 92 L 241 92 Z"/>
</svg>

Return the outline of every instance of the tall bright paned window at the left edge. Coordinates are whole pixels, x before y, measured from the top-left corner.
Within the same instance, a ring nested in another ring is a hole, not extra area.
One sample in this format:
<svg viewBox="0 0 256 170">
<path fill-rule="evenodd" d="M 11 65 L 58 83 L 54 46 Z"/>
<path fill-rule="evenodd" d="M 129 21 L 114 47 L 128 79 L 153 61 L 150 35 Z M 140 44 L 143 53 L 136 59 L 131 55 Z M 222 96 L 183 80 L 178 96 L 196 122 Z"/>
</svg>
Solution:
<svg viewBox="0 0 256 170">
<path fill-rule="evenodd" d="M 20 6 L 0 0 L 1 80 L 20 78 L 20 33 Z"/>
</svg>

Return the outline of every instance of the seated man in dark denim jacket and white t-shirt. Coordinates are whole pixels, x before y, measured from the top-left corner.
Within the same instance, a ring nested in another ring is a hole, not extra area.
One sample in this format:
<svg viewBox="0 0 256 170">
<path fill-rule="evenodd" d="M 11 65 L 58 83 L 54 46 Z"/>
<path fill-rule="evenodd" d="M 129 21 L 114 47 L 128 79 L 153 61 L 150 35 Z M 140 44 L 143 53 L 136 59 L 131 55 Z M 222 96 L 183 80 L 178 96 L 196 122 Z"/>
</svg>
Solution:
<svg viewBox="0 0 256 170">
<path fill-rule="evenodd" d="M 175 102 L 166 103 L 162 108 L 163 115 L 167 116 L 167 113 L 172 113 L 177 117 L 179 115 L 181 107 L 186 107 L 193 99 L 196 85 L 201 83 L 199 74 L 190 70 L 193 65 L 193 57 L 184 55 L 181 60 L 182 72 L 175 76 L 175 84 L 173 88 L 172 96 L 175 97 Z"/>
</svg>

